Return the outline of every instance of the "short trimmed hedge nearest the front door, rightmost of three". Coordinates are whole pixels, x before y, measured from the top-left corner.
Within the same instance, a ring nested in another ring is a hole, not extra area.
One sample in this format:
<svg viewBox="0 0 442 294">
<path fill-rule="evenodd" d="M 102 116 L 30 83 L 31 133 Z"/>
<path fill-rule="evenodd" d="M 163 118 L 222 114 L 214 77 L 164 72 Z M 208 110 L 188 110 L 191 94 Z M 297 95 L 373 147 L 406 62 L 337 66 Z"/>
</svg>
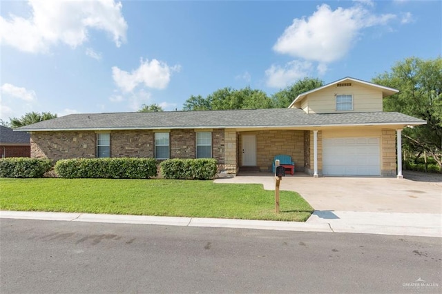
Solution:
<svg viewBox="0 0 442 294">
<path fill-rule="evenodd" d="M 218 172 L 216 159 L 167 159 L 160 164 L 166 179 L 213 179 Z"/>
</svg>

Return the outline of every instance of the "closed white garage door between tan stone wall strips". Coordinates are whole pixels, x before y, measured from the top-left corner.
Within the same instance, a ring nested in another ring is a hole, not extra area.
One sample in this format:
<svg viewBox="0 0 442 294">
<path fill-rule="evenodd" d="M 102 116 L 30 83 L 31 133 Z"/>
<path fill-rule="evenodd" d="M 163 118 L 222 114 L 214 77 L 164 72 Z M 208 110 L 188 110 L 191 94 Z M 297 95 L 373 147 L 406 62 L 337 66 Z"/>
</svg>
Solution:
<svg viewBox="0 0 442 294">
<path fill-rule="evenodd" d="M 323 139 L 324 175 L 381 175 L 378 138 Z"/>
</svg>

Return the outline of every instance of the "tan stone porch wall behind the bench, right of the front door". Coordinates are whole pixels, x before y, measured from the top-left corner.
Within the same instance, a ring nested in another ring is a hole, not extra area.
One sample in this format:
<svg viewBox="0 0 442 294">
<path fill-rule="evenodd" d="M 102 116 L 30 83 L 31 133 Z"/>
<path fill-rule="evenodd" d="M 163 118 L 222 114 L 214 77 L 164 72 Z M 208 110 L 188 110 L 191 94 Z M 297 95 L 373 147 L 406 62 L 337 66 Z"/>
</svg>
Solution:
<svg viewBox="0 0 442 294">
<path fill-rule="evenodd" d="M 275 155 L 290 155 L 295 162 L 295 169 L 304 170 L 302 130 L 261 130 L 250 134 L 256 134 L 256 164 L 260 170 L 271 170 Z"/>
</svg>

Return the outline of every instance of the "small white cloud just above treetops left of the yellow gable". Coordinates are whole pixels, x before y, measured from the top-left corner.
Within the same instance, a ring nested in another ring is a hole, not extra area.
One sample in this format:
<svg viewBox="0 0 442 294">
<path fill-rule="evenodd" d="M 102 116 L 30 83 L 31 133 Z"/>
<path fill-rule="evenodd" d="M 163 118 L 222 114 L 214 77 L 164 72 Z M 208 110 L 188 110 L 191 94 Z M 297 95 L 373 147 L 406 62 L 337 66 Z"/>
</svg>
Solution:
<svg viewBox="0 0 442 294">
<path fill-rule="evenodd" d="M 284 68 L 272 65 L 265 71 L 267 77 L 267 86 L 272 88 L 283 88 L 294 81 L 307 77 L 312 70 L 312 64 L 309 61 L 290 61 Z"/>
</svg>

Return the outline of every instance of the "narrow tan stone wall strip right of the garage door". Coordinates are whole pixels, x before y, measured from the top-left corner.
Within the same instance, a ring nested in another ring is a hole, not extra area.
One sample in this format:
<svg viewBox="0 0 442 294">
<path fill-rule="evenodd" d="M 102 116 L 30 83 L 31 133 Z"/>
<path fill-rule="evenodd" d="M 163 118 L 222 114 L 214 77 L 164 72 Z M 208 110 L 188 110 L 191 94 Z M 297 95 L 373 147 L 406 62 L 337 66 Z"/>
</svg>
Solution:
<svg viewBox="0 0 442 294">
<path fill-rule="evenodd" d="M 382 130 L 381 154 L 381 175 L 384 177 L 396 176 L 396 130 Z"/>
</svg>

